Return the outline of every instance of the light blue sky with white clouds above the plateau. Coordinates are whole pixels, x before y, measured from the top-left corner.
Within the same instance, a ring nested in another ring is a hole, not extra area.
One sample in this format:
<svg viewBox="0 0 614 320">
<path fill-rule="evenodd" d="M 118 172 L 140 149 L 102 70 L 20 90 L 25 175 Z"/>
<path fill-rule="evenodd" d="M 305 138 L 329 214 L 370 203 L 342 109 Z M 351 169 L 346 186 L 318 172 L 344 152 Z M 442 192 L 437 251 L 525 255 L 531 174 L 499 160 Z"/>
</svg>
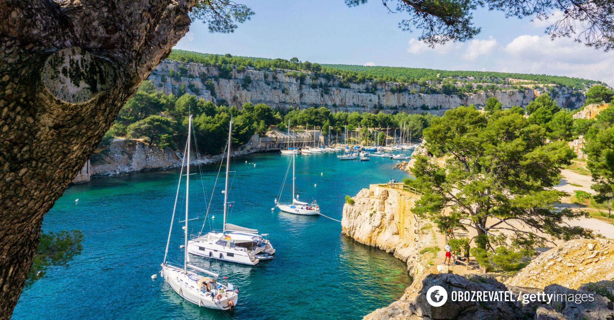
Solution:
<svg viewBox="0 0 614 320">
<path fill-rule="evenodd" d="M 387 13 L 377 0 L 353 8 L 343 0 L 238 2 L 254 10 L 251 21 L 231 34 L 209 33 L 195 21 L 176 48 L 317 63 L 568 75 L 614 85 L 614 53 L 550 40 L 543 30 L 556 20 L 506 19 L 481 9 L 474 14 L 482 28 L 476 39 L 431 49 L 417 40 L 420 31 L 398 28 L 406 14 Z"/>
</svg>

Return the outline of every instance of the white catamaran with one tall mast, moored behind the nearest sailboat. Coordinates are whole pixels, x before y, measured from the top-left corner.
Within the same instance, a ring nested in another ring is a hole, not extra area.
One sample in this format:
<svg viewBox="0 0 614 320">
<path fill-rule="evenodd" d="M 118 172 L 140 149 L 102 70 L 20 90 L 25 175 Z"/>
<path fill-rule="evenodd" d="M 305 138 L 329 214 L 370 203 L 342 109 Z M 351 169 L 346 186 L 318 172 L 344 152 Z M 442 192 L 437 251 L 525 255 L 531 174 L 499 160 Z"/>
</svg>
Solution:
<svg viewBox="0 0 614 320">
<path fill-rule="evenodd" d="M 226 223 L 228 213 L 228 173 L 232 144 L 232 121 L 228 129 L 228 154 L 226 157 L 226 186 L 224 194 L 224 218 L 222 231 L 211 231 L 193 237 L 187 243 L 188 252 L 195 256 L 209 257 L 239 264 L 255 265 L 260 260 L 273 259 L 275 249 L 266 239 L 268 234 L 258 234 L 257 229 Z"/>
</svg>

